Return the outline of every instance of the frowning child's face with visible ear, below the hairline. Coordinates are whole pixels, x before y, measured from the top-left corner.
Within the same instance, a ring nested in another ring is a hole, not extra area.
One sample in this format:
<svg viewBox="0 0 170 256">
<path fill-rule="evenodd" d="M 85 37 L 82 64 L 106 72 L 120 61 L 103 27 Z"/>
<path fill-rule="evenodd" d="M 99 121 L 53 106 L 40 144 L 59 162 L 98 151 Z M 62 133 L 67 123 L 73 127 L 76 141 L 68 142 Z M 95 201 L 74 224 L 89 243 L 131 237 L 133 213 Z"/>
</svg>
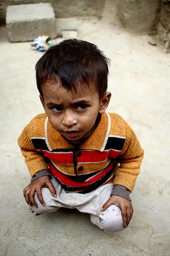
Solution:
<svg viewBox="0 0 170 256">
<path fill-rule="evenodd" d="M 111 97 L 111 93 L 106 93 L 100 101 L 92 89 L 77 88 L 72 92 L 57 83 L 46 83 L 42 93 L 44 99 L 40 99 L 52 127 L 73 141 L 88 137 L 98 113 L 105 112 Z"/>
</svg>

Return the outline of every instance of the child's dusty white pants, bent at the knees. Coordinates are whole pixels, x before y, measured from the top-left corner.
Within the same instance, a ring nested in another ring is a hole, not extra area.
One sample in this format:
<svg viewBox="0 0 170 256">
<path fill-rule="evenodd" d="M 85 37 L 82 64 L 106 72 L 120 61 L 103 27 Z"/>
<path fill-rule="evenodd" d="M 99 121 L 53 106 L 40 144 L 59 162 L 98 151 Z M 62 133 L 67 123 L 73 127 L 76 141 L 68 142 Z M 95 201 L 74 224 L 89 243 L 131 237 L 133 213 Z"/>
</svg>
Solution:
<svg viewBox="0 0 170 256">
<path fill-rule="evenodd" d="M 48 188 L 42 188 L 42 196 L 46 204 L 42 206 L 35 193 L 35 202 L 38 207 L 31 206 L 33 211 L 51 213 L 61 207 L 76 208 L 82 213 L 90 213 L 91 222 L 104 231 L 118 232 L 124 230 L 121 211 L 118 206 L 110 205 L 104 212 L 101 212 L 102 206 L 110 198 L 113 189 L 112 183 L 98 187 L 90 193 L 79 194 L 66 193 L 54 177 L 51 181 L 56 189 L 57 197 L 53 197 Z"/>
</svg>

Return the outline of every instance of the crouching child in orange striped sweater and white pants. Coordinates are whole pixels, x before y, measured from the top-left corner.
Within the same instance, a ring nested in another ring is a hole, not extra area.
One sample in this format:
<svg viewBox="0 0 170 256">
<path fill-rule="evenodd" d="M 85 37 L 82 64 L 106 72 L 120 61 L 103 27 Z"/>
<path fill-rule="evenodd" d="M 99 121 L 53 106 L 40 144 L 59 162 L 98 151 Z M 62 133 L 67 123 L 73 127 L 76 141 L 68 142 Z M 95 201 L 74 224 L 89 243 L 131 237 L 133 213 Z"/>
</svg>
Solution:
<svg viewBox="0 0 170 256">
<path fill-rule="evenodd" d="M 117 232 L 132 218 L 129 194 L 143 150 L 128 124 L 106 112 L 108 64 L 89 42 L 51 46 L 35 66 L 45 114 L 18 142 L 32 177 L 24 197 L 35 215 L 76 208 L 100 229 Z"/>
</svg>

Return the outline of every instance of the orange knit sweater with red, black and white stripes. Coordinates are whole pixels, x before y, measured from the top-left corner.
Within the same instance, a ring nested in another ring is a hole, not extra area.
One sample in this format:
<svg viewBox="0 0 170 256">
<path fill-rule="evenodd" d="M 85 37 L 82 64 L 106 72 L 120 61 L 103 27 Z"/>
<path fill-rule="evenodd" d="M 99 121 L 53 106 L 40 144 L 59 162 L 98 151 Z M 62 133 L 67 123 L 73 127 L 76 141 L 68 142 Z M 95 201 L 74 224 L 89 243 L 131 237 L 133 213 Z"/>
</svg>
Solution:
<svg viewBox="0 0 170 256">
<path fill-rule="evenodd" d="M 46 114 L 31 120 L 18 143 L 31 177 L 50 169 L 68 192 L 87 193 L 110 182 L 132 192 L 143 158 L 133 130 L 112 113 L 101 115 L 97 128 L 77 151 L 51 126 Z M 114 172 L 116 162 L 120 166 Z"/>
</svg>

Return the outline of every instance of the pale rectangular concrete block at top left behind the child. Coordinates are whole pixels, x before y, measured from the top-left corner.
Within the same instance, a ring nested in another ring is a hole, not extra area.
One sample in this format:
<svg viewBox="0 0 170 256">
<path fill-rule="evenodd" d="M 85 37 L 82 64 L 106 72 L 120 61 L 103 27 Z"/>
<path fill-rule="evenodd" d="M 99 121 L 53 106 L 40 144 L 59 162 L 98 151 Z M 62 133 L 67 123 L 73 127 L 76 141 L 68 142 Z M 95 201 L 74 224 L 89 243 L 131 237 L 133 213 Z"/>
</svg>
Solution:
<svg viewBox="0 0 170 256">
<path fill-rule="evenodd" d="M 6 26 L 10 42 L 32 41 L 39 35 L 56 38 L 55 13 L 49 3 L 8 6 Z"/>
</svg>

